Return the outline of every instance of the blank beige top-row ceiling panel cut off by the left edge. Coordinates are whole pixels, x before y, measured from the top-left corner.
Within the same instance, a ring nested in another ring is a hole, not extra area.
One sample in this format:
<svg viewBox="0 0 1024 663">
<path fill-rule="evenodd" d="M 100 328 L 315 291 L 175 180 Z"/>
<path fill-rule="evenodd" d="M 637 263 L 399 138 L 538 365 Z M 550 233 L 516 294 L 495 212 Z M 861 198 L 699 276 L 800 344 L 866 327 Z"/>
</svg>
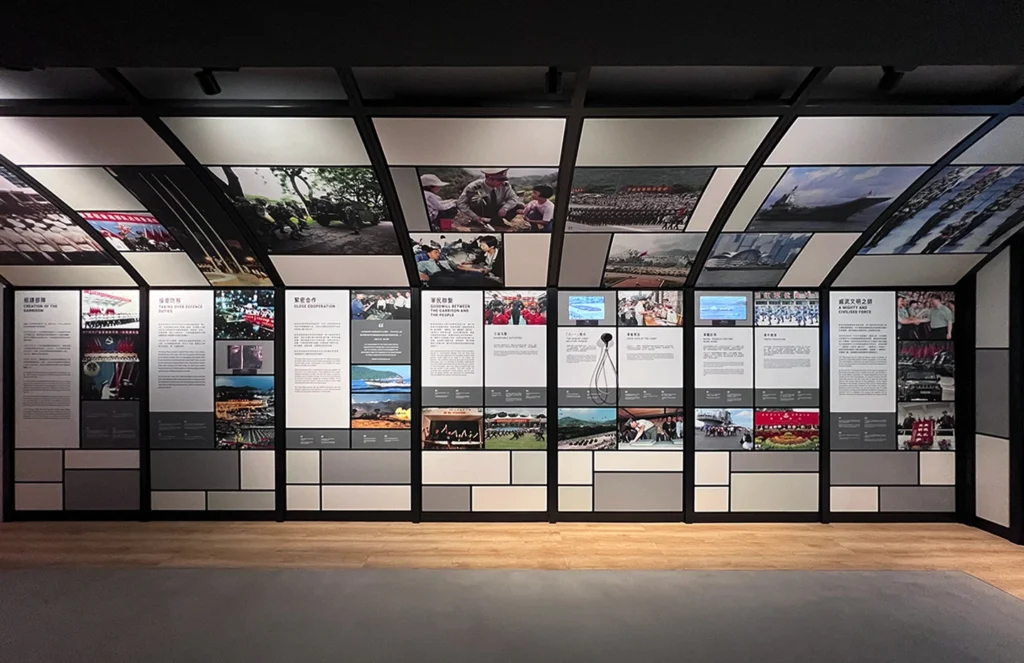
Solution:
<svg viewBox="0 0 1024 663">
<path fill-rule="evenodd" d="M 0 118 L 0 154 L 19 166 L 174 166 L 138 118 Z"/>
</svg>

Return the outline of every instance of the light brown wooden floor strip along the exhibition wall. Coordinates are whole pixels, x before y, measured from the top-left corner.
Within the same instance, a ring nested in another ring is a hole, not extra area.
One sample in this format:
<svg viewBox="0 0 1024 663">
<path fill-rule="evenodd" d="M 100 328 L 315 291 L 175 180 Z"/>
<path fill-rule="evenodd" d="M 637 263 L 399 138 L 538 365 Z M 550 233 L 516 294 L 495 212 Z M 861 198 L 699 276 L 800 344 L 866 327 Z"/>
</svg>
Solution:
<svg viewBox="0 0 1024 663">
<path fill-rule="evenodd" d="M 0 568 L 956 570 L 1024 598 L 1024 547 L 962 525 L 14 523 Z"/>
</svg>

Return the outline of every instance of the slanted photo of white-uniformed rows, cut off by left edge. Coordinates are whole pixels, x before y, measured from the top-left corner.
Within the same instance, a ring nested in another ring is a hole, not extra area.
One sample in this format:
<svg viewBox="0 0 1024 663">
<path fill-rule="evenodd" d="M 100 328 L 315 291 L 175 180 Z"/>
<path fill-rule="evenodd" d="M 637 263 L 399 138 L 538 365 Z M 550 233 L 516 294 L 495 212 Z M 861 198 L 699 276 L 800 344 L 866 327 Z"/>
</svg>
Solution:
<svg viewBox="0 0 1024 663">
<path fill-rule="evenodd" d="M 111 264 L 75 220 L 0 166 L 0 264 Z"/>
</svg>

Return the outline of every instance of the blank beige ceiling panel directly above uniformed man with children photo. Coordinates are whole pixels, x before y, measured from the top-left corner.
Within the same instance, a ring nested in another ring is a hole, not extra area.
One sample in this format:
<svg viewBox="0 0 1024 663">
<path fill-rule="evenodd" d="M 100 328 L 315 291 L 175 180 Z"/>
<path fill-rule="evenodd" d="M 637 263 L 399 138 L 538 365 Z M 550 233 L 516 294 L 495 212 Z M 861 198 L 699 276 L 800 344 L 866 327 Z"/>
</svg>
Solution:
<svg viewBox="0 0 1024 663">
<path fill-rule="evenodd" d="M 565 120 L 377 118 L 374 126 L 392 166 L 558 166 Z"/>
</svg>

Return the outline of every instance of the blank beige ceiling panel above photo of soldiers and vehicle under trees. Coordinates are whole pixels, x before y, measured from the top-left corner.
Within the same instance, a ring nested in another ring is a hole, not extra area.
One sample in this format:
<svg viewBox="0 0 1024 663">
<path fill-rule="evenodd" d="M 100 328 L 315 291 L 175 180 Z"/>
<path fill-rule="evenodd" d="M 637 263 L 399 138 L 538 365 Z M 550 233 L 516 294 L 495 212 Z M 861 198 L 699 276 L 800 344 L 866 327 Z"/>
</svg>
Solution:
<svg viewBox="0 0 1024 663">
<path fill-rule="evenodd" d="M 351 118 L 164 118 L 205 165 L 369 166 Z"/>
</svg>

